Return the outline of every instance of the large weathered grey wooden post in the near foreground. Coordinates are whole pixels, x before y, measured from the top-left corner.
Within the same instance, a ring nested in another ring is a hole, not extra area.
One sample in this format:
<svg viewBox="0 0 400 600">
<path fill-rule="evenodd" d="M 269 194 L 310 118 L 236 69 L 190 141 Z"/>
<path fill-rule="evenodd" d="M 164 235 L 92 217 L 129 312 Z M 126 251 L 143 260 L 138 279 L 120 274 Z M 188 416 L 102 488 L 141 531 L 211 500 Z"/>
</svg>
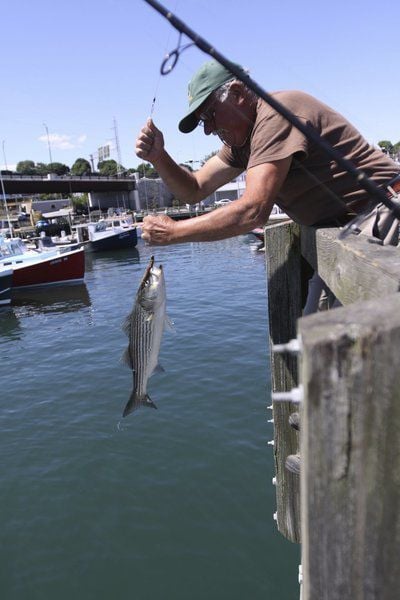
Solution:
<svg viewBox="0 0 400 600">
<path fill-rule="evenodd" d="M 303 600 L 394 600 L 400 295 L 306 317 L 299 331 Z"/>
</svg>

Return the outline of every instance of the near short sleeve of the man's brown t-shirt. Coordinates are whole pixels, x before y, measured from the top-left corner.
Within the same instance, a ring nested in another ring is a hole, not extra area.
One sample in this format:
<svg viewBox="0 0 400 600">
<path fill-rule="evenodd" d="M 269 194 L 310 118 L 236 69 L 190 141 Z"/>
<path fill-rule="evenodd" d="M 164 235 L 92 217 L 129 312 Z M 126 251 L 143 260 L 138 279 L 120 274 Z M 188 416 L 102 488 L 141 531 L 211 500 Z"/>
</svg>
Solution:
<svg viewBox="0 0 400 600">
<path fill-rule="evenodd" d="M 287 119 L 272 110 L 260 117 L 251 134 L 248 169 L 294 154 L 300 160 L 307 157 L 307 138 Z"/>
</svg>

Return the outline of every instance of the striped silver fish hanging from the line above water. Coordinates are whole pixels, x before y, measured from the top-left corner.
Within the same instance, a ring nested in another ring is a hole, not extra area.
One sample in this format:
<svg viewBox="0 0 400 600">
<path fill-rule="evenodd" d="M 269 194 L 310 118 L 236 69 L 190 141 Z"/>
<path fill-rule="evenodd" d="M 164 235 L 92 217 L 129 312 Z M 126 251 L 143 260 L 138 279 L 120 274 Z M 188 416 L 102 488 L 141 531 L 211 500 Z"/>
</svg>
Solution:
<svg viewBox="0 0 400 600">
<path fill-rule="evenodd" d="M 154 256 L 140 282 L 132 312 L 123 324 L 129 338 L 123 361 L 132 369 L 133 390 L 123 416 L 139 406 L 157 408 L 147 394 L 147 382 L 155 371 L 163 371 L 158 354 L 166 316 L 166 289 L 163 268 L 154 266 Z"/>
</svg>

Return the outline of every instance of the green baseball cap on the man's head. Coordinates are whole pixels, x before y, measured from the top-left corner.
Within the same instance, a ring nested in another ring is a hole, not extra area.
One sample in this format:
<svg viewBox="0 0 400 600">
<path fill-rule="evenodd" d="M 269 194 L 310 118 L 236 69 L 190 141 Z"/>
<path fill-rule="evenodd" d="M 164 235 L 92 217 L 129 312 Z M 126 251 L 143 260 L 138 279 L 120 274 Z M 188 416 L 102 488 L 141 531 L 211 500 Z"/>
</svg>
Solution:
<svg viewBox="0 0 400 600">
<path fill-rule="evenodd" d="M 244 71 L 240 65 L 235 64 L 235 67 Z M 199 119 L 194 114 L 195 111 L 207 100 L 208 96 L 214 90 L 217 90 L 221 85 L 234 78 L 235 76 L 216 60 L 204 63 L 189 82 L 189 112 L 180 121 L 178 125 L 179 131 L 182 131 L 182 133 L 193 131 L 199 124 Z"/>
</svg>

